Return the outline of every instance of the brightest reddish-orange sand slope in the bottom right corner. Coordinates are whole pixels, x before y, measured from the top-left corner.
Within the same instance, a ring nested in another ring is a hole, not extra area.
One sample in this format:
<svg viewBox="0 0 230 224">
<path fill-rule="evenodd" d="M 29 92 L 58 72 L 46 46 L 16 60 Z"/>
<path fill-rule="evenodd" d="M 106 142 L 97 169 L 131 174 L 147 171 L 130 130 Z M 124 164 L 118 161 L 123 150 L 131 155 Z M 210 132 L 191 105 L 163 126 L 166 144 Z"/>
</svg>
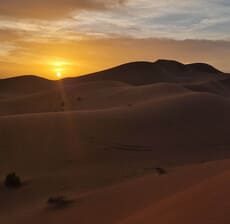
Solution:
<svg viewBox="0 0 230 224">
<path fill-rule="evenodd" d="M 229 223 L 230 171 L 174 194 L 121 223 Z"/>
</svg>

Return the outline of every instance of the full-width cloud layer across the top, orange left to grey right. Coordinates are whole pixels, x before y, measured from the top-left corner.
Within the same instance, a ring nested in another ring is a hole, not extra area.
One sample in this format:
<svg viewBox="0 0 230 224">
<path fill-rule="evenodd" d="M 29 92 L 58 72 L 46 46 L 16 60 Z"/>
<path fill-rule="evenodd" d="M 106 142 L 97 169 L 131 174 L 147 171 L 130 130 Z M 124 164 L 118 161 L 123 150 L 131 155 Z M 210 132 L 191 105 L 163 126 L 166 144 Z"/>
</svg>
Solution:
<svg viewBox="0 0 230 224">
<path fill-rule="evenodd" d="M 11 16 L 1 18 L 0 29 L 24 33 L 25 41 L 114 36 L 230 40 L 229 11 L 225 0 L 11 0 L 0 2 L 0 14 Z"/>
</svg>

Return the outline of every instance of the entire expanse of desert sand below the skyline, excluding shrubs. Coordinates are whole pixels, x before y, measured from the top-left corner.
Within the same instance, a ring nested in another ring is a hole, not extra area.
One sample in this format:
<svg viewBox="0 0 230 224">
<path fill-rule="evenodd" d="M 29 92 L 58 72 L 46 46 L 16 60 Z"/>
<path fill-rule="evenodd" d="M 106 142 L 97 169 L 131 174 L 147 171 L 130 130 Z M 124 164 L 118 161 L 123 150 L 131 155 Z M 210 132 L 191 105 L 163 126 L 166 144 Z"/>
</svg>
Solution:
<svg viewBox="0 0 230 224">
<path fill-rule="evenodd" d="M 0 80 L 0 223 L 230 223 L 228 75 L 159 60 Z"/>
</svg>

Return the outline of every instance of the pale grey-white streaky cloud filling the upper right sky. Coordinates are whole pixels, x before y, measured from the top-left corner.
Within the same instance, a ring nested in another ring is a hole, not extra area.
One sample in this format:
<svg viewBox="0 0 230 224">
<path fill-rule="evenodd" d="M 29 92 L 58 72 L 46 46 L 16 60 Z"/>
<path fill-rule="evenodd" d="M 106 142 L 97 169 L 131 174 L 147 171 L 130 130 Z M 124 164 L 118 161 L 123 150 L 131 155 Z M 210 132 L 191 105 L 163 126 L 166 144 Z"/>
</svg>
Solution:
<svg viewBox="0 0 230 224">
<path fill-rule="evenodd" d="M 230 4 L 226 1 L 128 1 L 112 11 L 76 15 L 76 29 L 85 33 L 136 38 L 230 39 Z"/>
</svg>

